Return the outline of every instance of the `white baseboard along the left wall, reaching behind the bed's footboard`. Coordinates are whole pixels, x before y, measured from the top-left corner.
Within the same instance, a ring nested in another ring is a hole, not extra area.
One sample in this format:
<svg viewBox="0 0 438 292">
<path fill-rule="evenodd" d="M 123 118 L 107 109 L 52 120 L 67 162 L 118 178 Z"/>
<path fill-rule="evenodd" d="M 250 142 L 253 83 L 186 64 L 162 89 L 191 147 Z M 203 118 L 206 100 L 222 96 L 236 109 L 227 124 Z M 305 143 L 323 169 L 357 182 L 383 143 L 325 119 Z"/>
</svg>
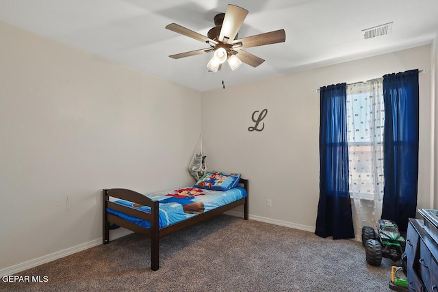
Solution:
<svg viewBox="0 0 438 292">
<path fill-rule="evenodd" d="M 125 228 L 118 228 L 115 230 L 110 230 L 110 240 L 118 239 L 124 237 L 125 235 L 131 234 L 131 230 Z M 65 250 L 60 250 L 59 252 L 53 252 L 53 254 L 47 254 L 39 258 L 35 258 L 31 261 L 26 261 L 24 263 L 19 263 L 18 265 L 13 265 L 12 267 L 7 267 L 5 269 L 0 269 L 0 278 L 3 276 L 10 276 L 26 269 L 42 265 L 44 263 L 49 263 L 55 261 L 58 258 L 63 258 L 64 256 L 69 256 L 70 254 L 75 254 L 76 252 L 81 252 L 82 250 L 88 250 L 88 248 L 93 248 L 96 245 L 102 244 L 102 237 L 99 239 L 94 239 L 86 243 L 81 243 L 79 245 L 73 246 L 71 248 L 66 248 Z"/>
</svg>

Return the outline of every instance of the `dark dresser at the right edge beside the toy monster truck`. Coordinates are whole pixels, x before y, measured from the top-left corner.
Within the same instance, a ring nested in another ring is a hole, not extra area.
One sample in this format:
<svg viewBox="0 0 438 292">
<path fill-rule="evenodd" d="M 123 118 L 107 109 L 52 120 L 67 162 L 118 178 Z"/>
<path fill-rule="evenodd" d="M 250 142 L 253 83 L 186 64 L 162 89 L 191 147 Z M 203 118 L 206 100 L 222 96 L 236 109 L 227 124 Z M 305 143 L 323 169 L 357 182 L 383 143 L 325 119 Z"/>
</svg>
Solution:
<svg viewBox="0 0 438 292">
<path fill-rule="evenodd" d="M 438 292 L 438 243 L 424 220 L 409 219 L 406 255 L 409 291 Z"/>
</svg>

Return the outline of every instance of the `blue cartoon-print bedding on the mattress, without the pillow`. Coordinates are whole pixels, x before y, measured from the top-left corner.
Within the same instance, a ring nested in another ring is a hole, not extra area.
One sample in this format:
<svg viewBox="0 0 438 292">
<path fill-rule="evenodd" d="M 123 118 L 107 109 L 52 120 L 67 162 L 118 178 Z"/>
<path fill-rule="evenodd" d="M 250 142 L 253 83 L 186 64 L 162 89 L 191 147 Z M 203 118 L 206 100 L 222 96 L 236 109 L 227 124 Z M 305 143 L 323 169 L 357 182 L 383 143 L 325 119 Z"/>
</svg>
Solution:
<svg viewBox="0 0 438 292">
<path fill-rule="evenodd" d="M 163 228 L 170 224 L 186 220 L 189 217 L 245 198 L 246 190 L 243 187 L 233 187 L 227 191 L 183 187 L 172 191 L 159 191 L 147 196 L 151 198 L 151 200 L 159 201 L 159 228 Z M 114 202 L 146 213 L 151 213 L 151 208 L 134 204 L 127 200 L 116 200 Z M 151 222 L 149 221 L 120 213 L 110 208 L 107 208 L 107 213 L 122 217 L 143 228 L 151 228 Z"/>
</svg>

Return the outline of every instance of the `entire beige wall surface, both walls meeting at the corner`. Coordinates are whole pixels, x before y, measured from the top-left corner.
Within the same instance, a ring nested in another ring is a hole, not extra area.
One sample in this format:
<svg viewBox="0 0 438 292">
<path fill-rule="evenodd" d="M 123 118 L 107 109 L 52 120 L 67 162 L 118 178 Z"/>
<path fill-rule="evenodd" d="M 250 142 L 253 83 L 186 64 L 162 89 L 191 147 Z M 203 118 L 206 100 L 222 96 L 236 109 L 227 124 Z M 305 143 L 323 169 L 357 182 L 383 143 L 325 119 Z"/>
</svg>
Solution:
<svg viewBox="0 0 438 292">
<path fill-rule="evenodd" d="M 424 46 L 201 94 L 2 23 L 0 39 L 0 274 L 99 244 L 103 187 L 192 183 L 201 130 L 209 169 L 250 179 L 252 219 L 313 231 L 314 90 L 431 64 Z M 419 207 L 433 193 L 430 74 L 420 74 Z M 265 129 L 248 131 L 265 108 Z"/>
</svg>

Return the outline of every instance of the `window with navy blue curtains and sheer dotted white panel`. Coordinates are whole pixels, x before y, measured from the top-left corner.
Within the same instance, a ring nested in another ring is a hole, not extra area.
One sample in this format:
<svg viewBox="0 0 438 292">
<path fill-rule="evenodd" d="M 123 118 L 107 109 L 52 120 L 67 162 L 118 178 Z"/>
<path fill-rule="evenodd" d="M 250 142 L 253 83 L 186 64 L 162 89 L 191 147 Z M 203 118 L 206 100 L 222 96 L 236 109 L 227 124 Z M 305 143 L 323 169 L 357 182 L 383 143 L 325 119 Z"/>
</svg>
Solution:
<svg viewBox="0 0 438 292">
<path fill-rule="evenodd" d="M 350 238 L 350 227 L 355 225 L 359 235 L 363 226 L 376 226 L 381 217 L 406 230 L 409 217 L 415 217 L 418 72 L 407 70 L 365 83 L 320 88 L 316 235 Z M 347 208 L 350 200 L 354 206 Z"/>
</svg>

